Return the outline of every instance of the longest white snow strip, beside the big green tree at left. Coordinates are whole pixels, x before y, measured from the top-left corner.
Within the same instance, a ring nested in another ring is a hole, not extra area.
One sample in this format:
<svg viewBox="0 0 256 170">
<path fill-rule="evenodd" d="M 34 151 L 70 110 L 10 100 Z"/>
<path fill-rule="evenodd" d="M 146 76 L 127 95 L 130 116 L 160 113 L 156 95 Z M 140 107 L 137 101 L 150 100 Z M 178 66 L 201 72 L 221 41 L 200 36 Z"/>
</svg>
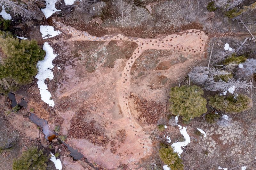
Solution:
<svg viewBox="0 0 256 170">
<path fill-rule="evenodd" d="M 57 54 L 53 54 L 52 47 L 48 44 L 48 42 L 44 43 L 44 51 L 46 51 L 46 55 L 44 57 L 44 60 L 38 61 L 36 67 L 38 68 L 38 73 L 36 75 L 36 78 L 38 79 L 37 85 L 40 90 L 41 99 L 47 103 L 49 106 L 54 106 L 54 101 L 50 100 L 52 97 L 51 93 L 47 90 L 47 85 L 44 83 L 44 80 L 46 78 L 49 78 L 49 80 L 52 80 L 53 73 L 52 69 L 53 64 L 52 60 L 57 56 Z"/>
</svg>

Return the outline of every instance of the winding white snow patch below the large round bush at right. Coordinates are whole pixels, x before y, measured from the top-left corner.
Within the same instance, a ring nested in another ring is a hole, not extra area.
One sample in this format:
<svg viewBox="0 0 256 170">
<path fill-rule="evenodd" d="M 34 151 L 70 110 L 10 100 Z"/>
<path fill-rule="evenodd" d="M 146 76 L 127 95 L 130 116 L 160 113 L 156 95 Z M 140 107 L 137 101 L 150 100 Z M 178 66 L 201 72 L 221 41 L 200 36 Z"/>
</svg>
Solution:
<svg viewBox="0 0 256 170">
<path fill-rule="evenodd" d="M 187 127 L 181 127 L 180 125 L 178 125 L 180 127 L 180 134 L 183 135 L 183 137 L 185 138 L 185 141 L 184 142 L 176 142 L 176 143 L 173 143 L 171 146 L 173 148 L 173 151 L 174 152 L 177 152 L 178 155 L 180 156 L 180 154 L 183 152 L 183 150 L 181 149 L 181 147 L 183 146 L 187 146 L 188 143 L 190 143 L 190 137 L 188 135 L 188 132 L 187 132 Z"/>
</svg>

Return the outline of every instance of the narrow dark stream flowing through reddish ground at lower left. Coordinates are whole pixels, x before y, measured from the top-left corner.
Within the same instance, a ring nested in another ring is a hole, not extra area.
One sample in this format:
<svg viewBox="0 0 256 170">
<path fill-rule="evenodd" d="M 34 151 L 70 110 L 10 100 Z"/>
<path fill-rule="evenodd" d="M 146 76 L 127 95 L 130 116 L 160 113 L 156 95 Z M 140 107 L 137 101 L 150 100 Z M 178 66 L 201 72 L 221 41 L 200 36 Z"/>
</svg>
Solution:
<svg viewBox="0 0 256 170">
<path fill-rule="evenodd" d="M 17 105 L 17 101 L 15 98 L 15 94 L 14 93 L 8 93 L 8 98 L 10 100 L 12 100 L 12 107 L 15 107 Z M 19 103 L 20 106 L 27 108 L 27 101 L 24 99 L 21 99 L 21 102 Z M 36 123 L 37 126 L 40 126 L 41 128 L 43 128 L 43 133 L 45 135 L 45 138 L 48 140 L 49 136 L 52 135 L 58 135 L 57 133 L 53 132 L 50 130 L 49 126 L 48 126 L 48 122 L 44 119 L 38 118 L 34 113 L 30 113 L 29 116 L 30 120 L 33 123 Z M 79 160 L 82 159 L 84 156 L 78 152 L 76 149 L 73 149 L 72 147 L 70 147 L 68 144 L 66 144 L 65 142 L 61 141 L 63 144 L 65 144 L 68 147 L 68 150 L 70 151 L 70 156 L 73 157 L 74 160 Z"/>
</svg>

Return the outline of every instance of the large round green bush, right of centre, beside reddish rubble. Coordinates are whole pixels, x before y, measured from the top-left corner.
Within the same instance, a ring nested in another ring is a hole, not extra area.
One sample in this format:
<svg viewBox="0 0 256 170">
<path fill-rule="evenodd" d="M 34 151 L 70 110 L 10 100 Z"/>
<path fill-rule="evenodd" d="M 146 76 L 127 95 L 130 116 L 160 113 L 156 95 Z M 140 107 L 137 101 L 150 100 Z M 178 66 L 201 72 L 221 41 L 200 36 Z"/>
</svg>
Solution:
<svg viewBox="0 0 256 170">
<path fill-rule="evenodd" d="M 207 111 L 204 91 L 196 86 L 172 87 L 170 91 L 170 111 L 173 115 L 181 115 L 185 122 L 190 118 L 199 117 Z"/>
</svg>

